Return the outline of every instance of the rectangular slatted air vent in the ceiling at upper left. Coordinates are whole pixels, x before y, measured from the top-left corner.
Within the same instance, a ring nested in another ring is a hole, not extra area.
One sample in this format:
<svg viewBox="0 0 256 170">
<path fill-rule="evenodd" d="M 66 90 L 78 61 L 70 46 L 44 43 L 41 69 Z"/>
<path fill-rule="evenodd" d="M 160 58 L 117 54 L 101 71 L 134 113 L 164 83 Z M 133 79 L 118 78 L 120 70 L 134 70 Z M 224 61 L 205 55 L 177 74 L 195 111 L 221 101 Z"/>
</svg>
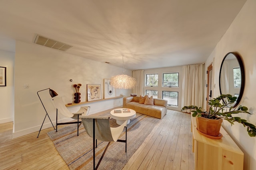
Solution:
<svg viewBox="0 0 256 170">
<path fill-rule="evenodd" d="M 50 47 L 52 49 L 57 49 L 60 51 L 67 51 L 68 49 L 70 49 L 71 45 L 65 44 L 65 43 L 61 43 L 59 41 L 53 40 L 53 39 L 49 39 L 46 37 L 43 37 L 41 35 L 36 35 L 36 39 L 34 41 L 34 44 L 38 44 L 38 45 L 43 45 L 46 47 Z"/>
</svg>

